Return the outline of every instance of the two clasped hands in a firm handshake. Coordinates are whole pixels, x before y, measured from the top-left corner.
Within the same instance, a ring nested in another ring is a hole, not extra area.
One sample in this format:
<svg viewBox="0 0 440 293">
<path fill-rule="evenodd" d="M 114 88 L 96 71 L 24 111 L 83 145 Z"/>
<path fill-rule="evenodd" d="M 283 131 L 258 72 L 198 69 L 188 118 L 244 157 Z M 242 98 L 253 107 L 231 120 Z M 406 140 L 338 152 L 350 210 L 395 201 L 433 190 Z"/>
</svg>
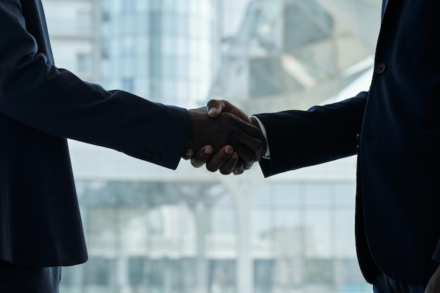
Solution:
<svg viewBox="0 0 440 293">
<path fill-rule="evenodd" d="M 266 153 L 266 138 L 254 117 L 226 100 L 188 110 L 190 129 L 183 159 L 209 171 L 242 174 Z"/>
</svg>

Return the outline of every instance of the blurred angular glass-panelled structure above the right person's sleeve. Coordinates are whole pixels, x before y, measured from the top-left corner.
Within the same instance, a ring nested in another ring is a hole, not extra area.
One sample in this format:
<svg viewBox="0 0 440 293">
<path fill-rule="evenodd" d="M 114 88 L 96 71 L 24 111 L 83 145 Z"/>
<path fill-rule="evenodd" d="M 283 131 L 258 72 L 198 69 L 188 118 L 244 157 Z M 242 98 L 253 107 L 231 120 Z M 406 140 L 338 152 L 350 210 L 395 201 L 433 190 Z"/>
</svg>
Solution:
<svg viewBox="0 0 440 293">
<path fill-rule="evenodd" d="M 222 44 L 209 96 L 250 113 L 306 109 L 336 96 L 359 77 L 370 78 L 380 6 L 380 0 L 250 1 L 238 32 Z"/>
</svg>

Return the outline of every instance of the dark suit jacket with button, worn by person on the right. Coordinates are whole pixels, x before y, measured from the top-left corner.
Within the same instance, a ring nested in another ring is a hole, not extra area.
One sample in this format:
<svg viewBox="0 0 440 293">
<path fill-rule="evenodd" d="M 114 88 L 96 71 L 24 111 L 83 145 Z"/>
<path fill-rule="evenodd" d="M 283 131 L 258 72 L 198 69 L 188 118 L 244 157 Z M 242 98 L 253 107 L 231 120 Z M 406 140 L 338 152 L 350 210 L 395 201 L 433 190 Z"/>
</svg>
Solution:
<svg viewBox="0 0 440 293">
<path fill-rule="evenodd" d="M 356 245 L 369 282 L 377 266 L 423 284 L 439 265 L 439 39 L 438 0 L 389 0 L 368 92 L 257 115 L 271 150 L 261 162 L 266 176 L 358 152 Z"/>
</svg>

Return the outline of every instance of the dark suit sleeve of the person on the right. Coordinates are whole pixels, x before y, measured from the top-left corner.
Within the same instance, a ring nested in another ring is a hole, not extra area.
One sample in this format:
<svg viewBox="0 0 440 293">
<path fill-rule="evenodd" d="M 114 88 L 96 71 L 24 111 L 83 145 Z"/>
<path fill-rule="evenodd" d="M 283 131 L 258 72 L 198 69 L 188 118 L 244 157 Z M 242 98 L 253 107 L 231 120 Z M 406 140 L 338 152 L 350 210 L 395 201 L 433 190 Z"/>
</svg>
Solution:
<svg viewBox="0 0 440 293">
<path fill-rule="evenodd" d="M 266 129 L 271 159 L 260 162 L 264 176 L 355 155 L 368 93 L 307 111 L 255 115 Z"/>
</svg>

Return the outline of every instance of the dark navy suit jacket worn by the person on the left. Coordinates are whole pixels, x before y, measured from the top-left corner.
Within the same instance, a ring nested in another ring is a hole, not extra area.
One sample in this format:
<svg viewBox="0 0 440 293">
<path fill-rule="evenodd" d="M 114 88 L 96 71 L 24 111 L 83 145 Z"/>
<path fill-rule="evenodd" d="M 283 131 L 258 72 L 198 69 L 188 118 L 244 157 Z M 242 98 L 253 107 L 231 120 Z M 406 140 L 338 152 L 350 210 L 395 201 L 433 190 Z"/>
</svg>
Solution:
<svg viewBox="0 0 440 293">
<path fill-rule="evenodd" d="M 0 1 L 0 259 L 87 259 L 65 138 L 175 169 L 188 113 L 54 66 L 40 0 Z"/>
</svg>

